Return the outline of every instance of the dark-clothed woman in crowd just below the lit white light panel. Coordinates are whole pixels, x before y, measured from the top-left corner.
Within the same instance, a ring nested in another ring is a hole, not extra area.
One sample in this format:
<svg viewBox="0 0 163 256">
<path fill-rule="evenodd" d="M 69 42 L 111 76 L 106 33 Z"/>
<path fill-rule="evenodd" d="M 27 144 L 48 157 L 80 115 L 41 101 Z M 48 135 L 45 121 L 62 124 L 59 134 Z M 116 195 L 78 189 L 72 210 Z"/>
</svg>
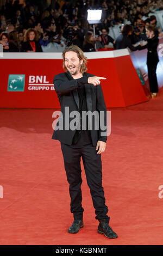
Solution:
<svg viewBox="0 0 163 256">
<path fill-rule="evenodd" d="M 97 51 L 95 48 L 95 36 L 92 31 L 88 31 L 85 35 L 84 43 L 83 43 L 83 51 L 84 52 L 95 52 Z"/>
</svg>

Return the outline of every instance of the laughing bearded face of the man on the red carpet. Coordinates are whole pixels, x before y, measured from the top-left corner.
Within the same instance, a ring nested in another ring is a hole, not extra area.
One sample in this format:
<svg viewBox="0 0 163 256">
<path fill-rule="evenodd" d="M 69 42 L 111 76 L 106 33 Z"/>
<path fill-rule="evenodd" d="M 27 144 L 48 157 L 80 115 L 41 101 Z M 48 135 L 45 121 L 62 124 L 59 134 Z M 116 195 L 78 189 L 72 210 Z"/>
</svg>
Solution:
<svg viewBox="0 0 163 256">
<path fill-rule="evenodd" d="M 79 59 L 76 52 L 65 53 L 65 66 L 71 75 L 80 73 L 80 66 L 83 64 L 83 59 Z"/>
</svg>

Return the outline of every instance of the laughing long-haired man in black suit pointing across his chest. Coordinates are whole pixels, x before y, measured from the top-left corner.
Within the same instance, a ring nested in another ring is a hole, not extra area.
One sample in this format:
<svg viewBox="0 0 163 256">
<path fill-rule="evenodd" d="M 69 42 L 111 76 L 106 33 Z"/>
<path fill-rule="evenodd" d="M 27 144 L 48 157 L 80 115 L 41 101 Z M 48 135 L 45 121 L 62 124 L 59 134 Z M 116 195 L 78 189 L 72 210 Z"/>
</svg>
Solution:
<svg viewBox="0 0 163 256">
<path fill-rule="evenodd" d="M 106 147 L 107 129 L 106 106 L 100 80 L 106 78 L 85 72 L 86 57 L 78 46 L 67 47 L 62 56 L 67 72 L 54 76 L 53 83 L 61 105 L 61 114 L 52 138 L 61 142 L 67 181 L 70 184 L 71 212 L 74 222 L 68 232 L 78 233 L 84 225 L 80 188 L 82 184 L 80 157 L 82 156 L 96 220 L 99 221 L 97 231 L 108 238 L 116 238 L 117 234 L 109 226 L 110 217 L 106 215 L 108 207 L 105 205 L 102 187 L 101 153 Z M 79 113 L 77 129 L 72 128 L 74 111 Z M 88 116 L 85 119 L 83 113 L 86 112 L 96 113 L 94 123 Z M 101 127 L 102 118 L 103 127 Z M 62 129 L 62 127 L 66 128 Z"/>
</svg>

